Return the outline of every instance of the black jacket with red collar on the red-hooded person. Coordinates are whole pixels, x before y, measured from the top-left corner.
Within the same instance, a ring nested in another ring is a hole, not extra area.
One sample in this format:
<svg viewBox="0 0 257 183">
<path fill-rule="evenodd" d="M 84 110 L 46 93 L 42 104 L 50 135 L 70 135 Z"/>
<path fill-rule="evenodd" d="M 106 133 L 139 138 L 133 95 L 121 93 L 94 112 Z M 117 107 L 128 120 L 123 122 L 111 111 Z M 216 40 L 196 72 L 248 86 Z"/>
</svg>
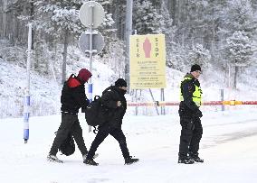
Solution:
<svg viewBox="0 0 257 183">
<path fill-rule="evenodd" d="M 71 114 L 78 114 L 79 109 L 84 112 L 89 105 L 89 99 L 85 95 L 85 86 L 80 78 L 71 75 L 62 87 L 61 111 Z"/>
</svg>

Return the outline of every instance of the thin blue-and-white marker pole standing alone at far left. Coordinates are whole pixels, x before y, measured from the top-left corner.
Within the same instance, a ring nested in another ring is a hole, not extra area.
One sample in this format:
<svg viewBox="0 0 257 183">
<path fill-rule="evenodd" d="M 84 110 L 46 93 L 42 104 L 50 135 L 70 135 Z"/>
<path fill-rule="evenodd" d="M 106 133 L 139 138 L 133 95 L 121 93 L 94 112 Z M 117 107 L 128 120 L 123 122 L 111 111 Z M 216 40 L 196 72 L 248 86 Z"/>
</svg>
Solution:
<svg viewBox="0 0 257 183">
<path fill-rule="evenodd" d="M 31 53 L 32 53 L 32 23 L 29 23 L 29 32 L 28 32 L 28 50 L 27 50 L 27 87 L 25 90 L 24 98 L 24 143 L 27 143 L 29 140 L 29 118 L 30 118 L 30 105 L 31 105 L 31 96 L 30 96 L 30 69 L 31 69 Z"/>
</svg>

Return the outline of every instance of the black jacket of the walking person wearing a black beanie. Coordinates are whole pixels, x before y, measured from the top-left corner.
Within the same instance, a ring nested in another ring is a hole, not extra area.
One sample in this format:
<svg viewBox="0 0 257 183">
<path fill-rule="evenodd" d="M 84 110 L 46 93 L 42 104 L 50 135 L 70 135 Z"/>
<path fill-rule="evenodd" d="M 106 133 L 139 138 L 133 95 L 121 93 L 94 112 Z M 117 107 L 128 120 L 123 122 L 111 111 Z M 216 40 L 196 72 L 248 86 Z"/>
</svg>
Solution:
<svg viewBox="0 0 257 183">
<path fill-rule="evenodd" d="M 125 90 L 119 89 L 119 87 L 110 86 L 102 92 L 101 101 L 109 110 L 107 114 L 107 123 L 114 128 L 120 128 L 122 119 L 127 109 L 127 101 L 125 98 Z M 117 102 L 121 102 L 121 106 L 117 105 Z"/>
</svg>

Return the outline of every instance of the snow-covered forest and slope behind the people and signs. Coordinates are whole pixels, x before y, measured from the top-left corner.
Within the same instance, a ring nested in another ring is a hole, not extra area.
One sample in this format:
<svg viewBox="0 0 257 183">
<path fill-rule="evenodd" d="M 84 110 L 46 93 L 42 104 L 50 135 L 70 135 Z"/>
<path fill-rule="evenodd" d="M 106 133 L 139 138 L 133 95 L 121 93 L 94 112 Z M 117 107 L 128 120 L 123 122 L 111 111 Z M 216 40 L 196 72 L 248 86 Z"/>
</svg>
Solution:
<svg viewBox="0 0 257 183">
<path fill-rule="evenodd" d="M 99 28 L 105 48 L 94 57 L 98 64 L 93 66 L 93 80 L 108 86 L 125 74 L 127 1 L 96 1 L 105 9 Z M 89 64 L 78 46 L 78 37 L 86 30 L 78 15 L 84 2 L 0 0 L 0 117 L 23 112 L 28 23 L 33 23 L 34 114 L 58 113 L 63 80 Z M 205 90 L 256 92 L 256 0 L 134 0 L 132 27 L 138 34 L 166 35 L 167 93 L 178 87 L 192 63 L 204 70 Z M 108 78 L 103 78 L 107 69 Z M 256 100 L 253 97 L 249 99 Z"/>
</svg>

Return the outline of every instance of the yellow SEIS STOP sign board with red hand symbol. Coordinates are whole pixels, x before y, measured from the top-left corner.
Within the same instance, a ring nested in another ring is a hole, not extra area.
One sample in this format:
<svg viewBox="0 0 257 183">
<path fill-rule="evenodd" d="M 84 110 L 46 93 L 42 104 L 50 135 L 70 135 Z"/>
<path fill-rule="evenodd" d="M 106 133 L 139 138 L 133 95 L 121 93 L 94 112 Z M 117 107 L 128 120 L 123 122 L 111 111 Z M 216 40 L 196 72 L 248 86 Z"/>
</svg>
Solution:
<svg viewBox="0 0 257 183">
<path fill-rule="evenodd" d="M 131 35 L 129 39 L 130 88 L 165 88 L 165 35 Z"/>
</svg>

